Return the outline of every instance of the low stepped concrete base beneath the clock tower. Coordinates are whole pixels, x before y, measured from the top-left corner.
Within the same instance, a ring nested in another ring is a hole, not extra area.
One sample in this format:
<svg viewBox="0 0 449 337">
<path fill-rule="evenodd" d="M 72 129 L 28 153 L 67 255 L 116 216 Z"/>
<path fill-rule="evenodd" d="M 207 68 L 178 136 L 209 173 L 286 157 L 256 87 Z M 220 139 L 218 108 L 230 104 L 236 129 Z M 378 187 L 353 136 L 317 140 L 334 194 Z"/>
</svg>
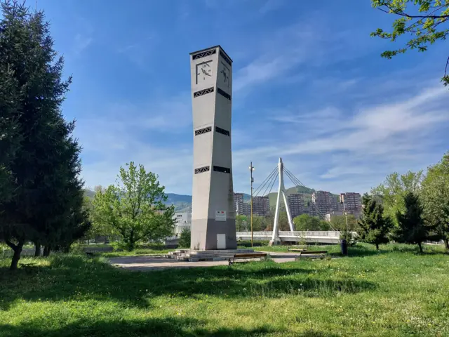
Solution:
<svg viewBox="0 0 449 337">
<path fill-rule="evenodd" d="M 178 249 L 170 251 L 166 258 L 174 258 L 182 261 L 220 261 L 234 258 L 236 253 L 253 253 L 253 249 L 222 249 L 211 251 L 195 251 L 193 249 Z"/>
</svg>

